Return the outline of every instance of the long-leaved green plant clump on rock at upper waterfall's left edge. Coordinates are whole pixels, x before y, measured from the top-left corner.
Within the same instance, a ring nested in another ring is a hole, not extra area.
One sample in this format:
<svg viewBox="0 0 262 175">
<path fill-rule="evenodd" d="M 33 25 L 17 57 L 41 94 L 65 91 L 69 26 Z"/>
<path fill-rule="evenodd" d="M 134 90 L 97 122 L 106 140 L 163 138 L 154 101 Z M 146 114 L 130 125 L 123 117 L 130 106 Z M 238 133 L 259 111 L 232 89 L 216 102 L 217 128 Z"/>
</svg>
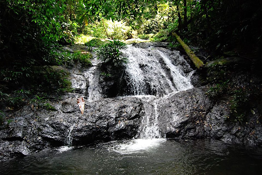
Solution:
<svg viewBox="0 0 262 175">
<path fill-rule="evenodd" d="M 127 48 L 125 43 L 114 39 L 113 41 L 100 46 L 97 49 L 97 54 L 103 63 L 119 66 L 122 63 L 127 63 L 127 58 L 123 57 L 122 52 L 120 51 L 120 49 L 125 48 Z"/>
</svg>

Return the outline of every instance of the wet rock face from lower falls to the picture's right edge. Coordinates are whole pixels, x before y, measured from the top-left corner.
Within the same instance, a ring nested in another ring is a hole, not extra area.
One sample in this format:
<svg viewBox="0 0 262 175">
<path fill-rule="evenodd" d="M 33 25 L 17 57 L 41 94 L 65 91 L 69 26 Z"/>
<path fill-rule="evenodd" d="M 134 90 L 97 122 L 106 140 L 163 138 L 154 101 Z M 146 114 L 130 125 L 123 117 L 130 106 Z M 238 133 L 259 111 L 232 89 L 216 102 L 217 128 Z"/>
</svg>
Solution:
<svg viewBox="0 0 262 175">
<path fill-rule="evenodd" d="M 245 123 L 230 122 L 230 103 L 214 104 L 204 87 L 174 94 L 160 102 L 159 126 L 166 138 L 210 138 L 246 146 L 262 144 L 262 126 L 259 112 L 249 115 Z M 257 114 L 258 113 L 258 114 Z"/>
</svg>

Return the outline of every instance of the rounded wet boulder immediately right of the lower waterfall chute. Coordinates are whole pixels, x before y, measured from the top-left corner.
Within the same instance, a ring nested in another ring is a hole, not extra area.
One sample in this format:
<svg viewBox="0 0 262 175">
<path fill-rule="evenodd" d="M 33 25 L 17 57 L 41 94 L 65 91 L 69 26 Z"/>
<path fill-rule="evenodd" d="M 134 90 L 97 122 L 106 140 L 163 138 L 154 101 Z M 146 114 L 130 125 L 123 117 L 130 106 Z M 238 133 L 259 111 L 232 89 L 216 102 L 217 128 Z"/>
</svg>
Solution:
<svg viewBox="0 0 262 175">
<path fill-rule="evenodd" d="M 167 138 L 204 138 L 205 115 L 212 101 L 203 88 L 178 92 L 160 102 L 159 126 Z"/>
</svg>

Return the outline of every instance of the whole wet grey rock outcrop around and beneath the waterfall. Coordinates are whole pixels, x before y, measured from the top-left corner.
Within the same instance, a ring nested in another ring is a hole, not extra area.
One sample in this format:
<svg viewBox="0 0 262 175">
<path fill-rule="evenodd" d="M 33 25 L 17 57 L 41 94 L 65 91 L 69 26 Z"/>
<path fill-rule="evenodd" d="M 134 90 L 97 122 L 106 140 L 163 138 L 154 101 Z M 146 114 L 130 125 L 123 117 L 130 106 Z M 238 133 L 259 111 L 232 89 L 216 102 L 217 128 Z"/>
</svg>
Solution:
<svg viewBox="0 0 262 175">
<path fill-rule="evenodd" d="M 161 47 L 161 52 L 151 50 L 152 46 Z M 139 69 L 145 74 L 143 87 L 147 88 L 146 94 L 156 96 L 116 98 L 117 95 L 130 95 L 125 92 L 128 91 L 128 78 L 123 78 L 126 74 L 124 67 L 105 66 L 93 59 L 90 67 L 78 65 L 68 69 L 74 92 L 65 93 L 59 99 L 51 93 L 45 103 L 53 108 L 44 108 L 43 104 L 34 106 L 36 104 L 28 102 L 18 111 L 5 109 L 5 115 L 10 120 L 0 126 L 0 161 L 29 155 L 37 150 L 68 145 L 71 144 L 69 138 L 72 138 L 72 145 L 137 138 L 143 127 L 148 125 L 142 123 L 144 117 L 155 120 L 156 115 L 162 137 L 210 138 L 249 146 L 262 144 L 262 108 L 253 108 L 254 114 L 250 113 L 247 121 L 237 123 L 226 120 L 230 115 L 230 102 L 221 98 L 221 101 L 215 103 L 205 94 L 205 87 L 173 94 L 176 87 L 172 88 L 172 82 L 170 81 L 170 85 L 166 81 L 172 80 L 172 75 L 162 56 L 170 55 L 172 65 L 179 67 L 185 74 L 192 69 L 178 53 L 170 53 L 165 46 L 164 43 L 135 45 L 147 49 L 144 54 L 154 55 L 151 63 L 148 60 L 139 60 Z M 141 55 L 137 51 L 133 54 Z M 151 70 L 155 69 L 159 70 L 152 73 Z M 194 77 L 198 77 L 197 72 Z M 255 81 L 243 74 L 232 80 L 238 85 L 244 78 L 244 82 Z M 243 87 L 245 85 L 248 84 L 243 84 Z M 173 95 L 167 97 L 166 94 L 170 92 Z M 163 95 L 165 96 L 160 97 Z M 83 115 L 76 103 L 79 97 L 86 99 Z M 256 106 L 262 106 L 262 103 Z"/>
</svg>

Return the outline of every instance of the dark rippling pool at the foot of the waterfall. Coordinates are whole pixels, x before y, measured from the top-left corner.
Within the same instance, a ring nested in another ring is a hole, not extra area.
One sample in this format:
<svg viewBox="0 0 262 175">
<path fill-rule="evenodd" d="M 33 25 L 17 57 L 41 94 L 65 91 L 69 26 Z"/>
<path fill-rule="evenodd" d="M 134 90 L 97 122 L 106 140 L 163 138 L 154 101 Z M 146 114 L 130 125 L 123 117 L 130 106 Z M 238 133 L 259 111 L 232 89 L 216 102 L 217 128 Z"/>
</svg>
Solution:
<svg viewBox="0 0 262 175">
<path fill-rule="evenodd" d="M 131 142 L 131 143 L 130 143 Z M 262 148 L 209 140 L 122 140 L 44 150 L 0 163 L 1 174 L 262 174 Z M 147 149 L 140 148 L 149 143 Z M 133 144 L 130 148 L 129 145 Z"/>
</svg>

